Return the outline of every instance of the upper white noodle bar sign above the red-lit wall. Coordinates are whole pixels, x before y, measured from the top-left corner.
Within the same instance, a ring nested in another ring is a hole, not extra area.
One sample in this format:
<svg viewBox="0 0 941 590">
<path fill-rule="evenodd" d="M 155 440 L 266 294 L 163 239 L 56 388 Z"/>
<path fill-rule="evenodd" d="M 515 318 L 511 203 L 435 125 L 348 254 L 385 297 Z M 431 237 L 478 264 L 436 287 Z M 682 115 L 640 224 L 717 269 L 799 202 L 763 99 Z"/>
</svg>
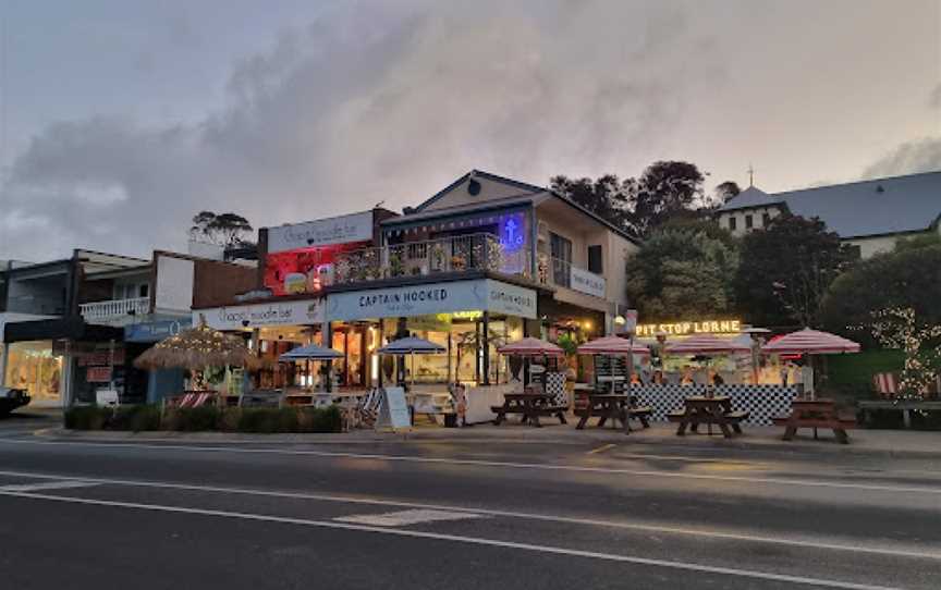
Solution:
<svg viewBox="0 0 941 590">
<path fill-rule="evenodd" d="M 372 211 L 268 228 L 268 254 L 372 239 Z"/>
</svg>

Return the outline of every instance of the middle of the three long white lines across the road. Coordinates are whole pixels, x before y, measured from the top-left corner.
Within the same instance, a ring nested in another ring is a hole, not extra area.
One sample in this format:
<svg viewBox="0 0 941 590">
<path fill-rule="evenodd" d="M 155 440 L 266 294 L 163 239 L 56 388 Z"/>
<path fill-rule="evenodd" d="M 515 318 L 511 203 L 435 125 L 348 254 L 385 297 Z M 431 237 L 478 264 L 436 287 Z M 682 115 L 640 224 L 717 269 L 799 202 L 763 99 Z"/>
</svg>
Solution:
<svg viewBox="0 0 941 590">
<path fill-rule="evenodd" d="M 36 479 L 66 479 L 70 476 L 62 475 L 51 475 L 51 474 L 32 474 L 28 471 L 0 471 L 0 476 L 11 476 L 11 477 L 32 477 Z M 379 500 L 375 497 L 363 497 L 363 496 L 342 496 L 335 494 L 314 494 L 307 492 L 285 492 L 285 491 L 274 491 L 274 490 L 255 490 L 248 488 L 222 488 L 217 485 L 196 485 L 190 483 L 174 483 L 169 481 L 149 481 L 149 480 L 129 480 L 129 479 L 110 479 L 110 478 L 95 478 L 95 477 L 82 477 L 82 481 L 101 483 L 101 484 L 110 484 L 110 485 L 126 485 L 126 487 L 139 487 L 139 488 L 156 488 L 156 489 L 166 489 L 166 490 L 182 490 L 182 491 L 193 491 L 193 492 L 211 492 L 211 493 L 224 493 L 224 494 L 239 494 L 239 495 L 249 495 L 249 496 L 261 496 L 261 497 L 279 497 L 279 499 L 290 499 L 290 500 L 309 500 L 316 502 L 337 502 L 342 504 L 362 504 L 366 506 L 386 506 L 386 507 L 396 507 L 396 508 L 419 508 L 419 509 L 435 509 L 435 511 L 445 511 L 445 512 L 464 512 L 464 513 L 473 513 L 477 515 L 490 516 L 490 517 L 509 517 L 509 518 L 521 518 L 527 520 L 540 520 L 546 523 L 557 523 L 557 524 L 566 524 L 566 525 L 581 525 L 588 527 L 606 527 L 606 528 L 615 528 L 623 530 L 633 530 L 640 532 L 650 532 L 656 534 L 681 534 L 681 536 L 689 536 L 689 537 L 702 537 L 707 539 L 722 539 L 728 541 L 744 541 L 744 542 L 753 542 L 753 543 L 769 543 L 769 544 L 778 544 L 785 546 L 796 546 L 796 548 L 812 548 L 820 549 L 826 551 L 846 551 L 850 553 L 866 553 L 873 555 L 888 555 L 892 557 L 913 557 L 913 558 L 924 558 L 924 560 L 941 560 L 941 552 L 925 552 L 925 551 L 909 551 L 904 549 L 892 549 L 889 546 L 864 546 L 860 544 L 840 544 L 834 542 L 821 542 L 816 541 L 812 538 L 791 538 L 785 539 L 783 537 L 760 537 L 755 534 L 745 534 L 738 532 L 721 532 L 714 529 L 702 530 L 695 528 L 682 528 L 682 527 L 670 527 L 670 526 L 661 526 L 661 525 L 651 525 L 651 524 L 639 524 L 639 523 L 627 523 L 627 521 L 612 521 L 612 520 L 599 520 L 594 518 L 577 518 L 571 516 L 555 516 L 555 515 L 547 515 L 547 514 L 536 514 L 536 513 L 523 513 L 523 512 L 514 512 L 514 511 L 500 511 L 493 508 L 467 508 L 464 506 L 452 506 L 447 504 L 425 504 L 419 502 L 403 502 L 398 500 Z"/>
</svg>

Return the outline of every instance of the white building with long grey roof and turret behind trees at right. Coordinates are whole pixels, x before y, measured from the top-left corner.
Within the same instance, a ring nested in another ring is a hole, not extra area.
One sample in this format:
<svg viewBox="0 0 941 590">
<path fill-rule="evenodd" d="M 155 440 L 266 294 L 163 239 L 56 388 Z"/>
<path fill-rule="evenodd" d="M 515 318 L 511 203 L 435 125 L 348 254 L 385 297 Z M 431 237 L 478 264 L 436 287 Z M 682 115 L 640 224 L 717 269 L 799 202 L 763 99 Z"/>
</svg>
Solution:
<svg viewBox="0 0 941 590">
<path fill-rule="evenodd" d="M 892 250 L 899 238 L 941 232 L 941 171 L 770 195 L 750 186 L 729 199 L 717 219 L 734 235 L 744 235 L 785 210 L 819 218 L 869 258 Z"/>
</svg>

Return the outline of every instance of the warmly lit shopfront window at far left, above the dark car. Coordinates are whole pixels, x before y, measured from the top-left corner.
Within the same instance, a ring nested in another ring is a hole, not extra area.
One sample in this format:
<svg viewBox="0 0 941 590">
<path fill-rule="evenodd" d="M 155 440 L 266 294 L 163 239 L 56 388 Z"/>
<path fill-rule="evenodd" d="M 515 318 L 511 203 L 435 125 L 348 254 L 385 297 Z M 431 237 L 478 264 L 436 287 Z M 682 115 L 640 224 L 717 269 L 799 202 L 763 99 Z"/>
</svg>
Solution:
<svg viewBox="0 0 941 590">
<path fill-rule="evenodd" d="M 29 392 L 35 402 L 60 402 L 62 357 L 52 354 L 52 341 L 9 344 L 3 384 Z"/>
</svg>

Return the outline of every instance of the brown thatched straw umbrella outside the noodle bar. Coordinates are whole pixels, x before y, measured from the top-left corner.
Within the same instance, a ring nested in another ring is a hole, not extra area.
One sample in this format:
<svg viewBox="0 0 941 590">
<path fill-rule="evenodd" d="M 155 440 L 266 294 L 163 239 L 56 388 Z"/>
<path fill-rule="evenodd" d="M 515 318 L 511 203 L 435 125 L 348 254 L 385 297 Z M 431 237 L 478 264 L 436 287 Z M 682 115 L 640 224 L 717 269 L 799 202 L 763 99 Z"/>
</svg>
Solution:
<svg viewBox="0 0 941 590">
<path fill-rule="evenodd" d="M 148 370 L 183 368 L 201 372 L 207 368 L 252 367 L 257 361 L 242 339 L 213 330 L 200 318 L 199 325 L 155 344 L 134 360 L 134 366 Z"/>
</svg>

